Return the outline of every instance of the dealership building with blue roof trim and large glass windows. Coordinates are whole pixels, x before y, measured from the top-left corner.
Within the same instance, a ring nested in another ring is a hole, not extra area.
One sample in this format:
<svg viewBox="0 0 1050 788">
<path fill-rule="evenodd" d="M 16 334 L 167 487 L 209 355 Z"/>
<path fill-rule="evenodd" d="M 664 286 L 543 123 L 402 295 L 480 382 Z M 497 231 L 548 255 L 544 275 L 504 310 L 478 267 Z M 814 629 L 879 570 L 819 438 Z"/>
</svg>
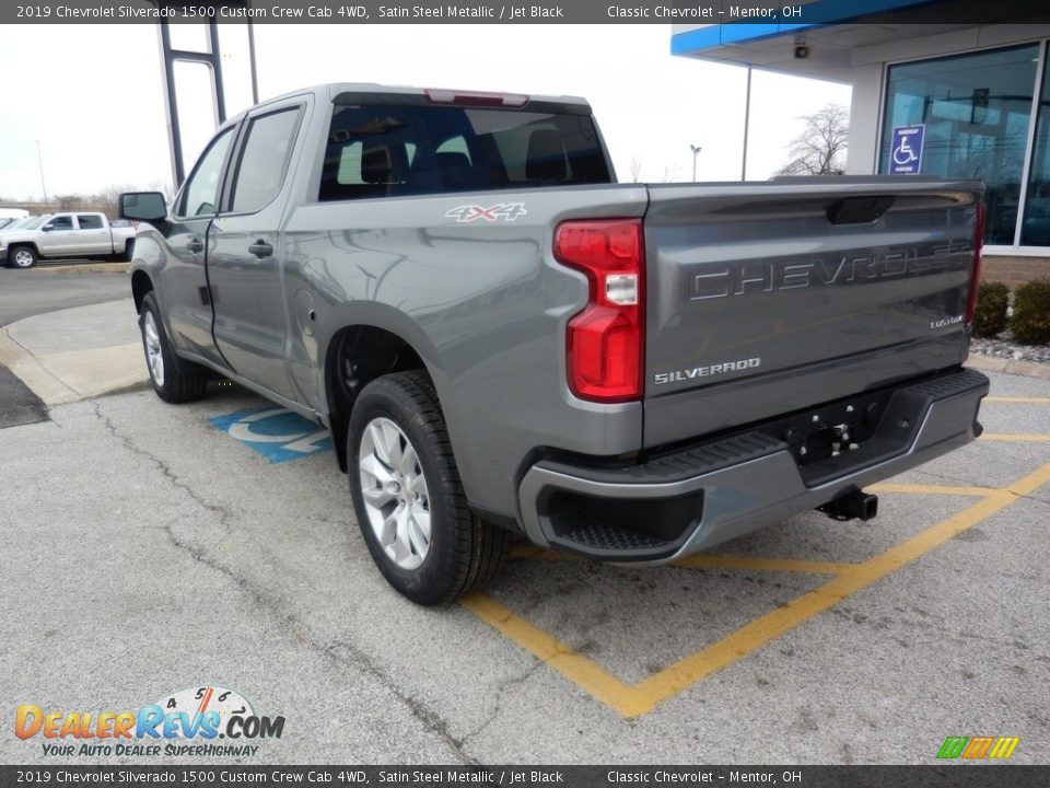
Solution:
<svg viewBox="0 0 1050 788">
<path fill-rule="evenodd" d="M 819 25 L 675 25 L 672 53 L 851 84 L 847 174 L 983 181 L 985 278 L 1017 285 L 1050 278 L 1050 20 L 982 2 L 1012 22 L 955 22 L 973 14 L 957 0 L 815 0 Z"/>
</svg>

